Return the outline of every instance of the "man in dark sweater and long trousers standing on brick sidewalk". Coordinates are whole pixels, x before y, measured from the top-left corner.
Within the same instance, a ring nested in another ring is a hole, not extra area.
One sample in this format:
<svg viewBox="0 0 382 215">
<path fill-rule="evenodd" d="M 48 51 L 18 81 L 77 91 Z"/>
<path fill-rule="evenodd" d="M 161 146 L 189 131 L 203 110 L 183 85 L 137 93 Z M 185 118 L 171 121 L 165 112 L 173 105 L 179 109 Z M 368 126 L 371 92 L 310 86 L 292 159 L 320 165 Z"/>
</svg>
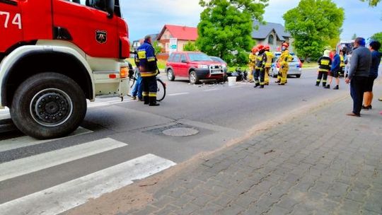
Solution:
<svg viewBox="0 0 382 215">
<path fill-rule="evenodd" d="M 354 41 L 349 76 L 345 80 L 346 83 L 350 83 L 350 95 L 353 99 L 353 111 L 347 115 L 352 117 L 361 117 L 362 101 L 369 79 L 371 52 L 365 45 L 365 39 L 362 37 L 357 37 Z"/>
</svg>

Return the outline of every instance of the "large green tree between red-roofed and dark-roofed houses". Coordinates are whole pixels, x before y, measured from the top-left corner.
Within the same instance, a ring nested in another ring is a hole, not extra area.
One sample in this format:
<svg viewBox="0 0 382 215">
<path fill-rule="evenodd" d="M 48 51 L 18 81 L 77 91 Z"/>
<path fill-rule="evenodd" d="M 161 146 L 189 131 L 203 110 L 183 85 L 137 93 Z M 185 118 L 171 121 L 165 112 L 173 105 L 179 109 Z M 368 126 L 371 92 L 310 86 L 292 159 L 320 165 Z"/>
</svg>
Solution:
<svg viewBox="0 0 382 215">
<path fill-rule="evenodd" d="M 197 47 L 228 64 L 245 64 L 253 47 L 253 20 L 262 22 L 268 0 L 200 0 Z"/>
</svg>

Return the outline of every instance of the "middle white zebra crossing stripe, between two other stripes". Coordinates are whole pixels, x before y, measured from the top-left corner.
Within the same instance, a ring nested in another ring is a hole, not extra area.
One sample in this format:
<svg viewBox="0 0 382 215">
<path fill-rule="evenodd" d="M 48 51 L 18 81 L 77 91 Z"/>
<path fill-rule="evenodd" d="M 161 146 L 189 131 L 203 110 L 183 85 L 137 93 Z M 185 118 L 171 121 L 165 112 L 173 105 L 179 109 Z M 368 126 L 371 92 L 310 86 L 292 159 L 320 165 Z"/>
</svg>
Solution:
<svg viewBox="0 0 382 215">
<path fill-rule="evenodd" d="M 59 149 L 57 151 L 41 153 L 37 156 L 30 156 L 16 161 L 1 163 L 0 182 L 123 146 L 127 146 L 127 144 L 116 141 L 115 139 L 105 138 L 77 146 Z"/>
</svg>

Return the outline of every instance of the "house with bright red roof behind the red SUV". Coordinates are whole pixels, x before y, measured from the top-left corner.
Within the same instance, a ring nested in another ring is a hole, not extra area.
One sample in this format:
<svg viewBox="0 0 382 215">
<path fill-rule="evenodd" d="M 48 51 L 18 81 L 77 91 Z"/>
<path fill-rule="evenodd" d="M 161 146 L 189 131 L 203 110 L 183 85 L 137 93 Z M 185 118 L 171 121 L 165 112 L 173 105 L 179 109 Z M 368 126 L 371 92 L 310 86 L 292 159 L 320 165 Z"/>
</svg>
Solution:
<svg viewBox="0 0 382 215">
<path fill-rule="evenodd" d="M 179 25 L 164 25 L 157 40 L 163 47 L 163 51 L 168 53 L 170 52 L 170 38 L 176 38 L 178 39 L 178 51 L 182 52 L 185 44 L 188 41 L 195 42 L 197 37 L 197 28 Z"/>
</svg>

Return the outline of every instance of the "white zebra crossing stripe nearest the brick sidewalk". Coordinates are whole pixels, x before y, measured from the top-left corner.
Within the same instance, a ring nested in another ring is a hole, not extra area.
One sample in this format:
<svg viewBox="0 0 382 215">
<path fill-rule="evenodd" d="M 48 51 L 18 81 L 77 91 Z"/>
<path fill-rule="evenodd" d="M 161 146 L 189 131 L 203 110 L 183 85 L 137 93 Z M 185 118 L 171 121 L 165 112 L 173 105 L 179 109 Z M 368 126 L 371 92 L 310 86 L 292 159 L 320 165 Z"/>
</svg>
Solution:
<svg viewBox="0 0 382 215">
<path fill-rule="evenodd" d="M 60 214 L 88 202 L 88 199 L 118 190 L 176 165 L 173 161 L 147 154 L 105 170 L 83 176 L 47 190 L 0 204 L 3 214 Z"/>
</svg>

